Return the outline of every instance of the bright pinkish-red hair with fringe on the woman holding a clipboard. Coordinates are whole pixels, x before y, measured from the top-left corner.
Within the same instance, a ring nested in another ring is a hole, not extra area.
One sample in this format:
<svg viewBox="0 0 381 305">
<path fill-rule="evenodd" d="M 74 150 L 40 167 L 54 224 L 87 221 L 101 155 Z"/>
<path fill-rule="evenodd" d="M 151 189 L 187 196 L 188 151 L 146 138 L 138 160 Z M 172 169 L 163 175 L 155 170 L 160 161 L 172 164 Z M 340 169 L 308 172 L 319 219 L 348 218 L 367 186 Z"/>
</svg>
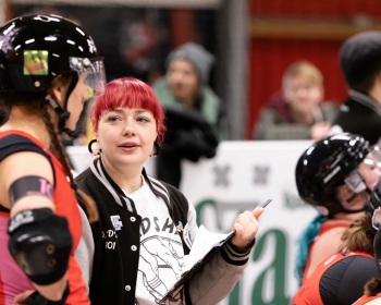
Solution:
<svg viewBox="0 0 381 305">
<path fill-rule="evenodd" d="M 116 108 L 138 108 L 150 111 L 156 121 L 157 142 L 159 145 L 162 144 L 167 131 L 165 114 L 150 86 L 134 77 L 116 78 L 108 83 L 105 93 L 97 98 L 93 107 L 93 129 L 98 130 L 100 117 L 105 111 Z"/>
</svg>

